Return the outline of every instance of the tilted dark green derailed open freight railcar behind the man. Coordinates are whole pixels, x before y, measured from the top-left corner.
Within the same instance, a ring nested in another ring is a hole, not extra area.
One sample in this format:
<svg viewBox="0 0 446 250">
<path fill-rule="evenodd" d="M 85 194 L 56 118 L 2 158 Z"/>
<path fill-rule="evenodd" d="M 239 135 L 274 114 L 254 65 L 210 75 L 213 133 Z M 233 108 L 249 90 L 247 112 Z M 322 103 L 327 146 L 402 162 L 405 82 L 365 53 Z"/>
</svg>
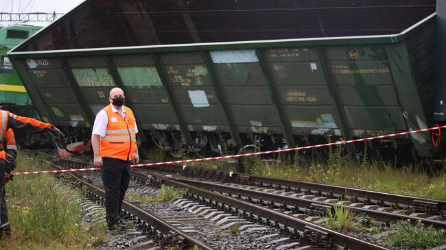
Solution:
<svg viewBox="0 0 446 250">
<path fill-rule="evenodd" d="M 172 155 L 257 137 L 263 149 L 296 147 L 432 126 L 434 10 L 403 0 L 89 0 L 10 58 L 41 117 L 67 129 L 88 134 L 118 86 L 142 140 Z M 369 147 L 436 153 L 427 132 Z"/>
</svg>

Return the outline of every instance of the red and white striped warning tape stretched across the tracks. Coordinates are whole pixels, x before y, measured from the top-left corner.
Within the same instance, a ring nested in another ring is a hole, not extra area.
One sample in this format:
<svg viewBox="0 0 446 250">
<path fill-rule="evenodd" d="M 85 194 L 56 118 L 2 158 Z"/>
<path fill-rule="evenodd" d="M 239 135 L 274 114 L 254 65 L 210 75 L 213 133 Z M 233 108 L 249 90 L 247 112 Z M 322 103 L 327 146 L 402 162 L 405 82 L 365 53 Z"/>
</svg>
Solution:
<svg viewBox="0 0 446 250">
<path fill-rule="evenodd" d="M 314 149 L 318 147 L 328 147 L 333 145 L 344 145 L 347 143 L 352 142 L 363 142 L 366 140 L 375 140 L 375 139 L 382 139 L 382 138 L 390 138 L 395 136 L 403 136 L 406 134 L 415 134 L 419 132 L 428 132 L 432 130 L 439 130 L 446 128 L 446 125 L 443 126 L 436 126 L 436 127 L 429 127 L 427 129 L 418 129 L 418 130 L 412 130 L 408 132 L 401 132 L 401 133 L 395 133 L 395 134 L 386 134 L 384 136 L 373 136 L 368 138 L 360 138 L 355 140 L 341 140 L 337 142 L 331 142 L 331 143 L 325 143 L 325 144 L 319 144 L 319 145 L 311 145 L 311 146 L 305 146 L 305 147 L 294 147 L 290 149 L 277 149 L 277 150 L 270 150 L 270 151 L 261 151 L 256 153 L 241 153 L 238 155 L 224 155 L 224 156 L 217 156 L 217 157 L 209 157 L 209 158 L 199 158 L 199 159 L 190 159 L 190 160 L 176 160 L 171 162 L 153 162 L 153 163 L 145 163 L 145 164 L 134 164 L 132 167 L 136 168 L 139 166 L 159 166 L 159 165 L 167 165 L 167 164 L 180 164 L 180 163 L 187 163 L 187 162 L 204 162 L 207 160 L 220 160 L 220 159 L 228 159 L 228 158 L 238 158 L 238 157 L 244 157 L 244 156 L 252 156 L 252 155 L 266 155 L 268 153 L 279 153 L 279 152 L 287 152 L 287 151 L 296 151 L 301 149 Z M 64 170 L 54 170 L 54 171 L 31 171 L 31 172 L 17 172 L 12 173 L 13 175 L 32 175 L 32 174 L 40 174 L 40 173 L 64 173 L 64 172 L 81 172 L 81 171 L 98 171 L 100 168 L 73 168 L 73 169 L 64 169 Z"/>
</svg>

